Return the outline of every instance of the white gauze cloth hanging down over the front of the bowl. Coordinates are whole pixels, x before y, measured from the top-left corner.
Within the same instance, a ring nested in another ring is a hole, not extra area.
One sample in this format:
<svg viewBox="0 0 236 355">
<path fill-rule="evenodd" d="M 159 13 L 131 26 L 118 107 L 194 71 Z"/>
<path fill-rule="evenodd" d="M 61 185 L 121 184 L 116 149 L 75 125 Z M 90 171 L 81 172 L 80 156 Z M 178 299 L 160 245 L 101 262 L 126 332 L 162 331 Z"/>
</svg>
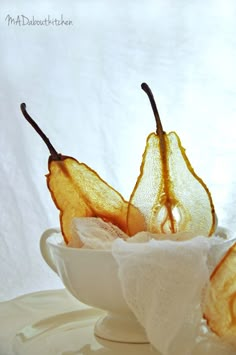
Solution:
<svg viewBox="0 0 236 355">
<path fill-rule="evenodd" d="M 196 344 L 212 242 L 199 236 L 178 242 L 113 243 L 126 302 L 164 355 L 189 355 Z"/>
</svg>

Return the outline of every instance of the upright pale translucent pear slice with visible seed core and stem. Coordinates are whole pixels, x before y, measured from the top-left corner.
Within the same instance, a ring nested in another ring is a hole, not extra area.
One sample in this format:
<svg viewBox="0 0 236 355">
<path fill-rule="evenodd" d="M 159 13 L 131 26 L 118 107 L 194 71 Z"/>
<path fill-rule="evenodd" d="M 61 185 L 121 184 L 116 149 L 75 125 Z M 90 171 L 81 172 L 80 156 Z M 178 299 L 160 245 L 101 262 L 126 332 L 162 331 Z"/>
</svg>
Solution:
<svg viewBox="0 0 236 355">
<path fill-rule="evenodd" d="M 177 134 L 163 131 L 150 88 L 144 83 L 142 89 L 150 99 L 157 129 L 147 138 L 140 175 L 130 197 L 130 205 L 144 217 L 141 230 L 209 236 L 216 224 L 210 192 L 191 167 Z M 139 228 L 128 211 L 130 235 L 141 231 Z"/>
</svg>

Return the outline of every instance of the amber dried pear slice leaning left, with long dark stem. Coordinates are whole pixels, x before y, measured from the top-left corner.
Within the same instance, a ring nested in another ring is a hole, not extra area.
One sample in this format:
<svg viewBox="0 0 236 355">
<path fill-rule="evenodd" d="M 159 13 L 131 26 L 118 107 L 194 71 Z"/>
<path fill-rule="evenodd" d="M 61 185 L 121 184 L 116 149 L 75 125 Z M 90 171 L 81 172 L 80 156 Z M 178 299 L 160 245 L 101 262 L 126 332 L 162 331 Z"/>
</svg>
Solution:
<svg viewBox="0 0 236 355">
<path fill-rule="evenodd" d="M 56 207 L 60 210 L 61 231 L 65 242 L 68 244 L 72 239 L 71 222 L 74 217 L 100 217 L 126 233 L 129 203 L 90 167 L 72 157 L 58 154 L 27 113 L 25 104 L 21 105 L 21 110 L 50 151 L 47 185 Z M 135 223 L 142 221 L 142 215 L 136 208 L 129 206 L 129 209 Z"/>
</svg>

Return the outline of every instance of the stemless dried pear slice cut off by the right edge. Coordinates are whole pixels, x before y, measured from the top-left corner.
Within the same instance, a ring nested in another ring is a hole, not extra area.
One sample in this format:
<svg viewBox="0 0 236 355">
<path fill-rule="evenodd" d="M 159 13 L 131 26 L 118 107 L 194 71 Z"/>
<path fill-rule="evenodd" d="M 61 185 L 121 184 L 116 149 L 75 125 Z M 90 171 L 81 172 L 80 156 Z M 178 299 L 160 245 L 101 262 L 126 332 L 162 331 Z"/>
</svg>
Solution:
<svg viewBox="0 0 236 355">
<path fill-rule="evenodd" d="M 236 243 L 211 274 L 204 317 L 213 332 L 236 343 Z"/>
</svg>

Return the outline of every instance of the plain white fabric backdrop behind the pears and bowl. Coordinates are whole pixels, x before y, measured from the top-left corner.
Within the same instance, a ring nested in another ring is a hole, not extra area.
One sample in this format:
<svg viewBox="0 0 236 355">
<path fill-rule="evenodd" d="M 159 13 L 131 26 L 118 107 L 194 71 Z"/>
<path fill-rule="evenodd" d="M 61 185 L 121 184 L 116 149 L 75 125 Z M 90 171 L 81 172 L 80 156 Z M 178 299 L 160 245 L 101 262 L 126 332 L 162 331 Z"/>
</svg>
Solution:
<svg viewBox="0 0 236 355">
<path fill-rule="evenodd" d="M 220 224 L 236 228 L 235 1 L 1 0 L 0 10 L 1 300 L 62 287 L 39 252 L 41 233 L 58 225 L 48 151 L 21 102 L 57 150 L 128 198 L 155 130 L 146 81 L 165 130 L 179 134 L 211 190 Z M 8 23 L 8 15 L 61 14 L 73 24 Z"/>
</svg>

